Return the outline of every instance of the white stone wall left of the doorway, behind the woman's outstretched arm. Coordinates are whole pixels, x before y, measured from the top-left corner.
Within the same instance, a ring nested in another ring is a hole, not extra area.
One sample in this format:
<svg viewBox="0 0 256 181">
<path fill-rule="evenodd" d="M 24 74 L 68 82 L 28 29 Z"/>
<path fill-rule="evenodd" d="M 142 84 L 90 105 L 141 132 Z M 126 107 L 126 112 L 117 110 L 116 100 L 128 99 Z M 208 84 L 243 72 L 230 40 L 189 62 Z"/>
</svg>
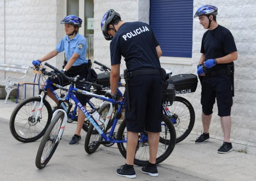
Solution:
<svg viewBox="0 0 256 181">
<path fill-rule="evenodd" d="M 32 60 L 53 50 L 65 35 L 60 25 L 63 9 L 63 0 L 0 0 L 0 62 L 32 66 Z M 63 59 L 63 54 L 59 54 L 48 62 L 60 67 Z M 0 72 L 1 79 L 6 76 L 20 75 Z M 33 80 L 31 69 L 26 81 Z M 27 86 L 27 96 L 32 96 L 30 85 Z"/>
</svg>

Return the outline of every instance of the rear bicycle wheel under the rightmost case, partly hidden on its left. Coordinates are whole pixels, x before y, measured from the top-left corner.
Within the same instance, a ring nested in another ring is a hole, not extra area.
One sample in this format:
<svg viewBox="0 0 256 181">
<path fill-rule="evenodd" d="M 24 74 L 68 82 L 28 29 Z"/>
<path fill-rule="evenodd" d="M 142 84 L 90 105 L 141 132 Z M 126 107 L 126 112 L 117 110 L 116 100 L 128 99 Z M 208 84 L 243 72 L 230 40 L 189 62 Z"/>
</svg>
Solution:
<svg viewBox="0 0 256 181">
<path fill-rule="evenodd" d="M 173 126 L 176 130 L 176 143 L 184 140 L 195 124 L 195 111 L 191 103 L 182 97 L 176 96 L 171 106 L 168 106 Z M 176 122 L 176 123 L 175 123 Z"/>
</svg>

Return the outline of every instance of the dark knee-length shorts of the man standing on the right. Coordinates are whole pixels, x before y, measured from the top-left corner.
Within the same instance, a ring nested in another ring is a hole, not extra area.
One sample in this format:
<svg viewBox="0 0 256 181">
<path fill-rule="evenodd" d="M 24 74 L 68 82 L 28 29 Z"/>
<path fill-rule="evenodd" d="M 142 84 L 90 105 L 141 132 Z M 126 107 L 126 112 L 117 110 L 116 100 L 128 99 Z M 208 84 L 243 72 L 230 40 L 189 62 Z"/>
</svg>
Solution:
<svg viewBox="0 0 256 181">
<path fill-rule="evenodd" d="M 215 98 L 217 100 L 218 115 L 230 116 L 233 105 L 231 75 L 203 76 L 201 104 L 205 115 L 212 114 Z"/>
</svg>

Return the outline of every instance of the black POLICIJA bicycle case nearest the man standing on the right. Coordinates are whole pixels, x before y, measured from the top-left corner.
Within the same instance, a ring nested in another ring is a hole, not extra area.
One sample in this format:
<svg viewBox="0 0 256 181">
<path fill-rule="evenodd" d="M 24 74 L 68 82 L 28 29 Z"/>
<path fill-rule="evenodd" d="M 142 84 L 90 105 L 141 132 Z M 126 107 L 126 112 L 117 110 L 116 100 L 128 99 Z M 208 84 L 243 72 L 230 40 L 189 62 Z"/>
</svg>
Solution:
<svg viewBox="0 0 256 181">
<path fill-rule="evenodd" d="M 171 78 L 166 81 L 170 84 L 174 84 L 176 94 L 195 92 L 198 82 L 195 74 L 179 74 L 171 76 Z"/>
</svg>

